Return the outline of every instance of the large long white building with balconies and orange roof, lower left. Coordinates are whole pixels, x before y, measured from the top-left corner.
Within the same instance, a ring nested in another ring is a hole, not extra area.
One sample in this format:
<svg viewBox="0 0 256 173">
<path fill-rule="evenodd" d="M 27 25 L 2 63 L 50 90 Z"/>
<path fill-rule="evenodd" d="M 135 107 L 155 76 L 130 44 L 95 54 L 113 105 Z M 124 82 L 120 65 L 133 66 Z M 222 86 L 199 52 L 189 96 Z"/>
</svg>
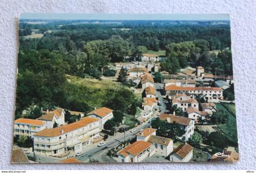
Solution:
<svg viewBox="0 0 256 173">
<path fill-rule="evenodd" d="M 99 137 L 101 128 L 97 118 L 85 117 L 71 124 L 44 129 L 33 135 L 34 152 L 40 155 L 63 156 L 81 152 Z"/>
</svg>

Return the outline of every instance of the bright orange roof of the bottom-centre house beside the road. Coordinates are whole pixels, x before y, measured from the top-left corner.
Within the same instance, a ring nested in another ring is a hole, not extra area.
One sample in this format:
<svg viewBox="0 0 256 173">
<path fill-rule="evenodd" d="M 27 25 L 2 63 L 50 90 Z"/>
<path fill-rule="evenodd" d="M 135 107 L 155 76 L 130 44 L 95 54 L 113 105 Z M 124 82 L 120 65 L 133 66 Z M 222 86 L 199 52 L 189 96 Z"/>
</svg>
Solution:
<svg viewBox="0 0 256 173">
<path fill-rule="evenodd" d="M 122 154 L 125 157 L 129 154 L 137 156 L 144 150 L 148 149 L 151 146 L 151 143 L 148 141 L 136 141 L 135 143 L 130 144 L 123 150 L 119 151 L 118 154 Z"/>
</svg>

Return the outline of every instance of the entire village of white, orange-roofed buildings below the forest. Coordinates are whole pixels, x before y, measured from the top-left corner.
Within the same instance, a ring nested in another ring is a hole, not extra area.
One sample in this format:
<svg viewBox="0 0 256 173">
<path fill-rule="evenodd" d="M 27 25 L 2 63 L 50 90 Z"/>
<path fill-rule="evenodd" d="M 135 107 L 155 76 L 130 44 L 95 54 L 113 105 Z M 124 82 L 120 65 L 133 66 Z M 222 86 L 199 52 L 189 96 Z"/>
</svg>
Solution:
<svg viewBox="0 0 256 173">
<path fill-rule="evenodd" d="M 113 118 L 113 110 L 108 107 L 95 107 L 91 112 L 68 110 L 71 116 L 79 117 L 73 123 L 67 123 L 65 107 L 43 110 L 35 120 L 15 120 L 13 135 L 30 137 L 33 144 L 32 148 L 13 148 L 13 160 L 82 163 L 82 158 L 88 157 L 87 162 L 187 162 L 195 161 L 195 154 L 201 154 L 207 161 L 238 161 L 238 152 L 232 147 L 211 153 L 204 151 L 202 144 L 190 143 L 196 127 L 215 126 L 211 120 L 219 111 L 216 104 L 234 103 L 223 97 L 224 90 L 233 84 L 233 76 L 206 73 L 202 66 L 188 66 L 170 74 L 161 71 L 163 59 L 145 53 L 141 61 L 115 63 L 114 70 L 118 73 L 126 69 L 126 80 L 135 84 L 131 89 L 141 95 L 141 113 L 135 117 L 138 123 L 132 129 L 124 128 L 123 132 L 110 135 L 104 129 L 104 124 Z M 156 72 L 162 75 L 161 82 L 155 82 Z M 183 134 L 177 138 L 163 137 L 159 135 L 161 129 L 152 126 L 154 121 L 175 124 Z M 88 153 L 92 151 L 104 155 L 100 159 L 90 157 Z"/>
</svg>

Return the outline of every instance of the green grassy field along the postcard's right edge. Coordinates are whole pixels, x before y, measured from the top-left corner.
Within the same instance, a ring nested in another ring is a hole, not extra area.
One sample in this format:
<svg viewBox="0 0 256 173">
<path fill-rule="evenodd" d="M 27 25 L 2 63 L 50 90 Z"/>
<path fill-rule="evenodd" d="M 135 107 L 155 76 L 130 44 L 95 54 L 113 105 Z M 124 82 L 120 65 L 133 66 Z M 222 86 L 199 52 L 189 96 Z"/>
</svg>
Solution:
<svg viewBox="0 0 256 173">
<path fill-rule="evenodd" d="M 226 124 L 218 125 L 219 129 L 227 137 L 227 139 L 232 143 L 233 146 L 237 145 L 237 129 L 236 129 L 236 118 L 233 117 L 229 111 L 223 107 L 220 103 L 216 103 L 216 108 L 218 110 L 224 110 L 229 115 L 229 119 Z"/>
</svg>

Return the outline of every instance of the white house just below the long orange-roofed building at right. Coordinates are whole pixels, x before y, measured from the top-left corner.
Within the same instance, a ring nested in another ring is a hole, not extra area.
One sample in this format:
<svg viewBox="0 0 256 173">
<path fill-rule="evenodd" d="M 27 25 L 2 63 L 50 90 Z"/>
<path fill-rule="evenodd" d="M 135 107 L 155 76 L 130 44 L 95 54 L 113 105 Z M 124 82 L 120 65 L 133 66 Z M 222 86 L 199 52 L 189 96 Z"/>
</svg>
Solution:
<svg viewBox="0 0 256 173">
<path fill-rule="evenodd" d="M 172 106 L 177 105 L 178 108 L 181 108 L 183 111 L 186 111 L 188 107 L 195 107 L 198 109 L 198 102 L 194 98 L 191 98 L 190 100 L 180 100 L 179 98 L 176 98 L 172 100 Z"/>
</svg>

